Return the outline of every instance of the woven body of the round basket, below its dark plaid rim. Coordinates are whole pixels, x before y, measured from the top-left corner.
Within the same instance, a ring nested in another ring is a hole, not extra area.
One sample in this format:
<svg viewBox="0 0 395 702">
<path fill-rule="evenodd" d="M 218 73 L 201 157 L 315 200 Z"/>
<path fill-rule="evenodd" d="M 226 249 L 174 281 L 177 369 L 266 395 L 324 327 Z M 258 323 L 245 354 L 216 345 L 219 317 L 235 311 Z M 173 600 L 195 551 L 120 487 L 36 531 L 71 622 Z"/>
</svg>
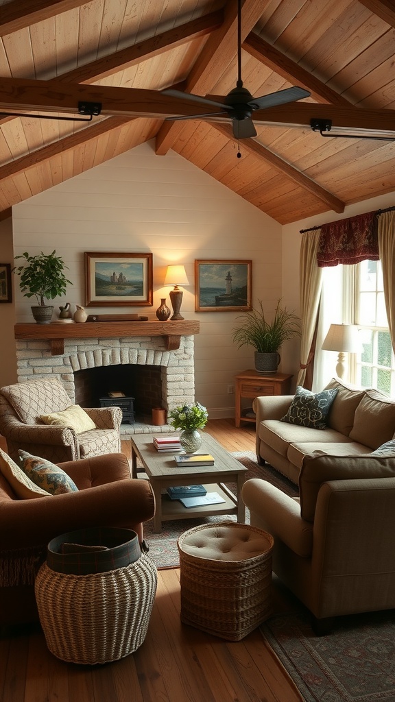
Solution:
<svg viewBox="0 0 395 702">
<path fill-rule="evenodd" d="M 143 643 L 157 588 L 157 569 L 144 553 L 105 573 L 56 573 L 44 563 L 35 583 L 48 649 L 70 663 L 108 663 Z"/>
</svg>

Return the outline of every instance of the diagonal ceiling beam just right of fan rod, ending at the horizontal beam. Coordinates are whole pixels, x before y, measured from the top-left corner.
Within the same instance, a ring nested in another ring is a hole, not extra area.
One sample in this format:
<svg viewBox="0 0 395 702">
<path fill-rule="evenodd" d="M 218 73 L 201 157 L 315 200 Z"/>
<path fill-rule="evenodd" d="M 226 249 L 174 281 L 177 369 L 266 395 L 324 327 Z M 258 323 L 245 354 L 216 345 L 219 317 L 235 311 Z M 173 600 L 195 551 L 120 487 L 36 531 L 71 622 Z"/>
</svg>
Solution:
<svg viewBox="0 0 395 702">
<path fill-rule="evenodd" d="M 335 93 L 323 81 L 268 44 L 255 32 L 250 32 L 247 35 L 242 48 L 285 80 L 309 90 L 314 100 L 328 102 L 330 105 L 350 105 L 349 100 Z"/>
</svg>

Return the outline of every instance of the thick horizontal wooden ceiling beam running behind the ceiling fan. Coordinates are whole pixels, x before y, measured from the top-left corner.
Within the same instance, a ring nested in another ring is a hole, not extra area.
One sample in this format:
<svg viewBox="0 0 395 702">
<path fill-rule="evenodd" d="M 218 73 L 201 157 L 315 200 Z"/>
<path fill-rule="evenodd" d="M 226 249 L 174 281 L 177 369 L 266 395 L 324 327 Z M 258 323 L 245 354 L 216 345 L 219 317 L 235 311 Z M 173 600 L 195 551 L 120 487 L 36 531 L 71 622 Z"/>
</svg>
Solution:
<svg viewBox="0 0 395 702">
<path fill-rule="evenodd" d="M 222 96 L 209 95 L 209 98 L 221 100 Z M 207 114 L 205 105 L 200 106 L 183 98 L 171 98 L 153 90 L 0 78 L 0 110 L 4 112 L 76 114 L 78 102 L 101 102 L 102 114 L 115 116 L 164 118 L 174 114 Z M 281 126 L 310 126 L 310 120 L 314 117 L 331 119 L 334 128 L 395 133 L 395 110 L 290 102 L 253 113 L 257 124 Z M 228 123 L 228 117 L 212 117 L 210 121 Z"/>
</svg>

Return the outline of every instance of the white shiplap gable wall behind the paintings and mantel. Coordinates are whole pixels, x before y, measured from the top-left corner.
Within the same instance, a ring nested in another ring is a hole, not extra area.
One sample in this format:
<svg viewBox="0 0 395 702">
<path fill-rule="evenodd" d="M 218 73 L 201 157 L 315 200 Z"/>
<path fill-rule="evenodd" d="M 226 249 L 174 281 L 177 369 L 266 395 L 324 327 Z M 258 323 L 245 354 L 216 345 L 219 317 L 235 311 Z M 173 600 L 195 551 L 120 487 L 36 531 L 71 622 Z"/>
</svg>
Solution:
<svg viewBox="0 0 395 702">
<path fill-rule="evenodd" d="M 153 307 L 89 312 L 139 312 L 156 319 L 169 263 L 183 263 L 190 281 L 181 313 L 200 321 L 195 336 L 195 397 L 210 418 L 233 416 L 227 386 L 252 368 L 253 351 L 232 342 L 234 312 L 195 312 L 195 259 L 252 260 L 253 301 L 268 312 L 282 295 L 282 227 L 174 152 L 155 155 L 145 143 L 13 208 L 15 255 L 56 249 L 73 282 L 63 300 L 84 304 L 84 251 L 153 253 Z M 31 322 L 30 300 L 15 286 L 16 321 Z M 170 306 L 170 304 L 169 304 Z M 294 373 L 294 368 L 283 368 Z"/>
</svg>

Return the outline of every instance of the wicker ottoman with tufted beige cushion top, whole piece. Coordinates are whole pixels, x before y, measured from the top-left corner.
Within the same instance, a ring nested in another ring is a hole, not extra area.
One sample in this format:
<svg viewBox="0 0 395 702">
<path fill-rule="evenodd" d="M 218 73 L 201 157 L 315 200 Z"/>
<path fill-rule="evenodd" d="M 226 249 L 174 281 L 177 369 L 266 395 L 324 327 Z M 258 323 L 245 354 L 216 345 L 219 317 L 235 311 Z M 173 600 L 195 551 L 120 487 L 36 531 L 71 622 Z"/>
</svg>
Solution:
<svg viewBox="0 0 395 702">
<path fill-rule="evenodd" d="M 240 641 L 271 614 L 271 534 L 220 522 L 185 531 L 177 545 L 183 623 Z"/>
</svg>

